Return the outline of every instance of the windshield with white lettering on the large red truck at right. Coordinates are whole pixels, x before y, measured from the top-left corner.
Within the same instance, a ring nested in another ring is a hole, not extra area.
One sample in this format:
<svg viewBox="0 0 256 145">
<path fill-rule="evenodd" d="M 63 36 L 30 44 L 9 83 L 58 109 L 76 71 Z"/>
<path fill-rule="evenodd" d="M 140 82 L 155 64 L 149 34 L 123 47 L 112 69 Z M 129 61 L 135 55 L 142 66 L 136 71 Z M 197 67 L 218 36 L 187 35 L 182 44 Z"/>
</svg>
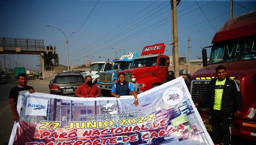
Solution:
<svg viewBox="0 0 256 145">
<path fill-rule="evenodd" d="M 214 44 L 210 63 L 256 59 L 256 35 Z"/>
</svg>

